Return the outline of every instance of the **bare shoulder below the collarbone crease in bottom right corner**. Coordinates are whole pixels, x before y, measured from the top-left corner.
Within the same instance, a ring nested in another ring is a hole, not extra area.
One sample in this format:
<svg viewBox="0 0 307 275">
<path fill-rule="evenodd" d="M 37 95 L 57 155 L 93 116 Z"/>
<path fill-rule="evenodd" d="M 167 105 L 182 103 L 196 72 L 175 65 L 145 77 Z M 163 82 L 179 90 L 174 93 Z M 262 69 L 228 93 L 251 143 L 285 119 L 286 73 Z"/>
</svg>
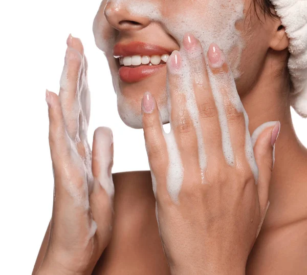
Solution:
<svg viewBox="0 0 307 275">
<path fill-rule="evenodd" d="M 307 219 L 261 232 L 246 274 L 307 274 Z"/>
</svg>

